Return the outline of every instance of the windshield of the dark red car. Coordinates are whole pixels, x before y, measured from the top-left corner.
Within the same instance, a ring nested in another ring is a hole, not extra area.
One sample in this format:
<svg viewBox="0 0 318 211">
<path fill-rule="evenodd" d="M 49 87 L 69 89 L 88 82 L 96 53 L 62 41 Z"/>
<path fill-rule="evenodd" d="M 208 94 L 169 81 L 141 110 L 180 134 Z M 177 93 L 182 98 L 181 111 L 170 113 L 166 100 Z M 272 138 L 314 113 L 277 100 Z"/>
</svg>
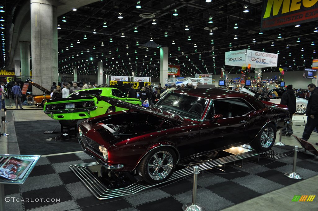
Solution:
<svg viewBox="0 0 318 211">
<path fill-rule="evenodd" d="M 170 92 L 156 104 L 162 110 L 178 113 L 182 117 L 200 119 L 207 104 L 206 99 Z"/>
</svg>

